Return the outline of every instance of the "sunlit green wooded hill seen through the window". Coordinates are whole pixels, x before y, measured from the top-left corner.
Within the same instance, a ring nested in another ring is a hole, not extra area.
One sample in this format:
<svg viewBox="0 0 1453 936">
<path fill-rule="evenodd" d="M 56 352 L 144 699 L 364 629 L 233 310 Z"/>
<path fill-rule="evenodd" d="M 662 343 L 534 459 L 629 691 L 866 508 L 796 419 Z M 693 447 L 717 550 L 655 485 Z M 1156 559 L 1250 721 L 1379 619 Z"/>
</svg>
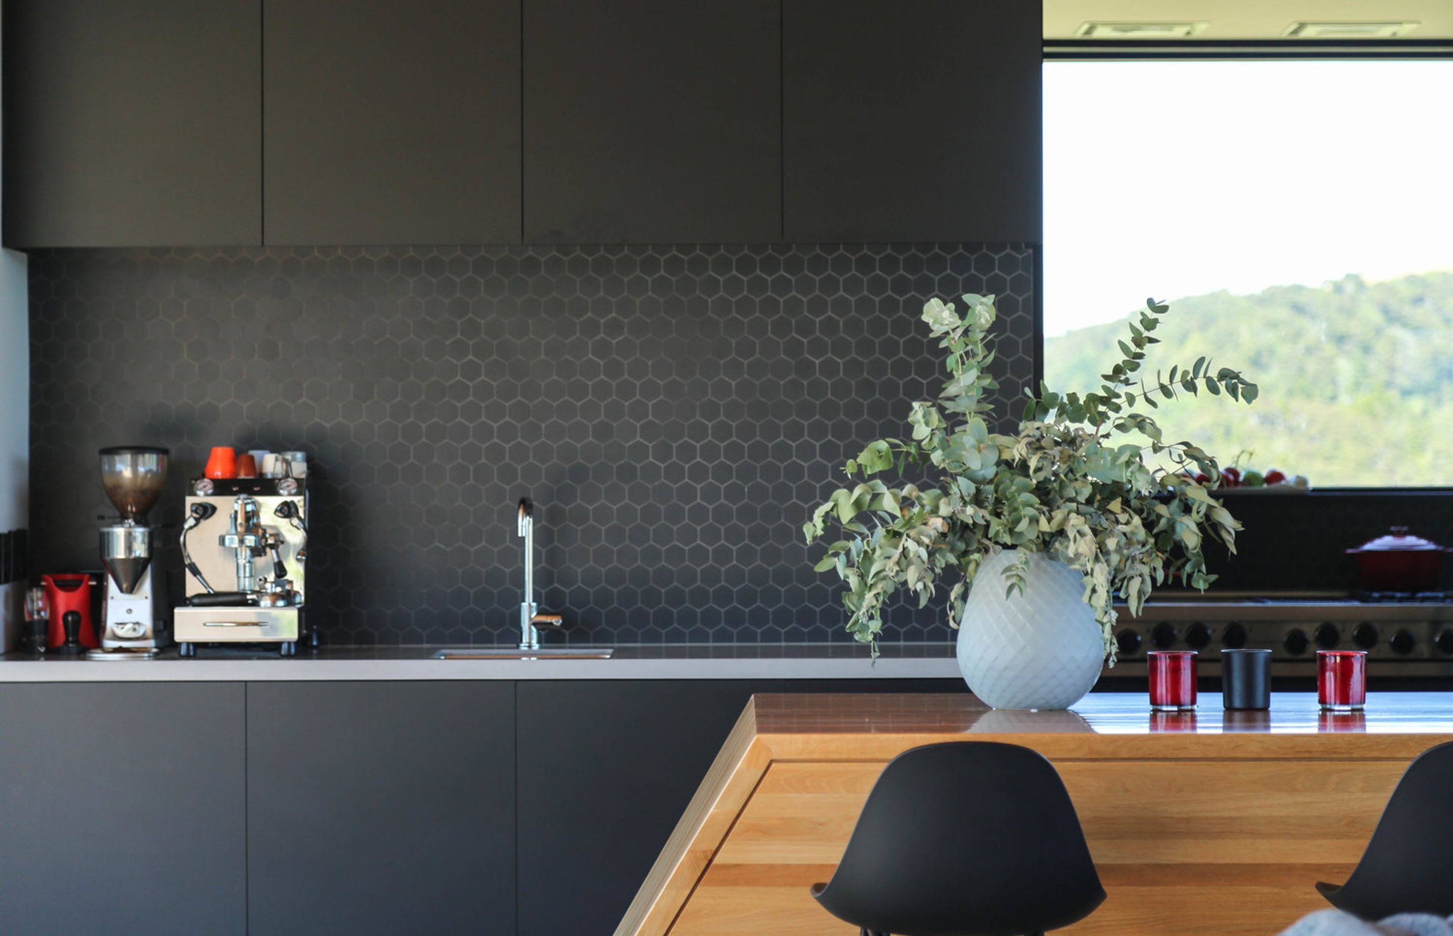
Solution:
<svg viewBox="0 0 1453 936">
<path fill-rule="evenodd" d="M 1049 339 L 1046 382 L 1098 387 L 1123 336 L 1112 323 Z M 1167 436 L 1314 487 L 1453 484 L 1453 273 L 1190 296 L 1155 336 L 1152 374 L 1209 355 L 1261 390 L 1250 407 L 1205 392 L 1164 404 Z"/>
</svg>

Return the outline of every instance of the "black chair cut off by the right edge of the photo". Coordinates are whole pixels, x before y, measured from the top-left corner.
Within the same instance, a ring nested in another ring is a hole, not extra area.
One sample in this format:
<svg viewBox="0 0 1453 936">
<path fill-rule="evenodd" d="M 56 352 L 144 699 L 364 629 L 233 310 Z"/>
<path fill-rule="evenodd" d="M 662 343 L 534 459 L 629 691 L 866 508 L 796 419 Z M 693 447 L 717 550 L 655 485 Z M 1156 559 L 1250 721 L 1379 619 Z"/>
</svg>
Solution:
<svg viewBox="0 0 1453 936">
<path fill-rule="evenodd" d="M 1408 764 L 1347 884 L 1316 889 L 1364 920 L 1453 916 L 1453 741 Z"/>
</svg>

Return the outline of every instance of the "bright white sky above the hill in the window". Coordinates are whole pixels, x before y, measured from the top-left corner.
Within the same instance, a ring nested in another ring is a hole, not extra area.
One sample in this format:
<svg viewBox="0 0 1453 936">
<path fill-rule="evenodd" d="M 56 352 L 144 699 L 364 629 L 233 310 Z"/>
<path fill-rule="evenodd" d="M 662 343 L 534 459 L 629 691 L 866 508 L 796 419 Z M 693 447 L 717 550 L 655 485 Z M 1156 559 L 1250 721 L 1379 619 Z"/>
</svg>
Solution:
<svg viewBox="0 0 1453 936">
<path fill-rule="evenodd" d="M 1453 269 L 1453 61 L 1046 62 L 1045 334 Z"/>
</svg>

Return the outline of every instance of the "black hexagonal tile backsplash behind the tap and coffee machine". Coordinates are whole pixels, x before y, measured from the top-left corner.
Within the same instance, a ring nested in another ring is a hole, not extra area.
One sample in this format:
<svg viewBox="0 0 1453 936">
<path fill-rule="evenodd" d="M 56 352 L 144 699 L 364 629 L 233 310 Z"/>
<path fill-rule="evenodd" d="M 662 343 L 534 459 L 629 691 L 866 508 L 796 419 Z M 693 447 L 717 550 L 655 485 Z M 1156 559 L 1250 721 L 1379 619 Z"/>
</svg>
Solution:
<svg viewBox="0 0 1453 936">
<path fill-rule="evenodd" d="M 516 500 L 574 642 L 846 640 L 808 512 L 939 382 L 918 312 L 1000 296 L 1033 366 L 1024 246 L 46 250 L 31 254 L 36 571 L 96 568 L 96 449 L 304 449 L 330 644 L 510 642 Z M 943 640 L 898 608 L 889 640 Z"/>
</svg>

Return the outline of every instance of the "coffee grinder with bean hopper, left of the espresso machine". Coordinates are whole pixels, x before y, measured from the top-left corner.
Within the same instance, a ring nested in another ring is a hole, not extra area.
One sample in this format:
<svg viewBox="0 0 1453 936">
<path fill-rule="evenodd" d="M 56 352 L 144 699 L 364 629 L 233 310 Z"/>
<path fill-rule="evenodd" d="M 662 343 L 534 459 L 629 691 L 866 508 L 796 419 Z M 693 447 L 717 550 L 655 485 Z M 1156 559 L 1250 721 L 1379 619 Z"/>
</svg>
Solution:
<svg viewBox="0 0 1453 936">
<path fill-rule="evenodd" d="M 100 528 L 106 567 L 100 647 L 92 660 L 147 660 L 171 642 L 166 580 L 151 562 L 147 513 L 167 483 L 167 449 L 124 445 L 100 449 L 100 483 L 121 522 Z"/>
</svg>

